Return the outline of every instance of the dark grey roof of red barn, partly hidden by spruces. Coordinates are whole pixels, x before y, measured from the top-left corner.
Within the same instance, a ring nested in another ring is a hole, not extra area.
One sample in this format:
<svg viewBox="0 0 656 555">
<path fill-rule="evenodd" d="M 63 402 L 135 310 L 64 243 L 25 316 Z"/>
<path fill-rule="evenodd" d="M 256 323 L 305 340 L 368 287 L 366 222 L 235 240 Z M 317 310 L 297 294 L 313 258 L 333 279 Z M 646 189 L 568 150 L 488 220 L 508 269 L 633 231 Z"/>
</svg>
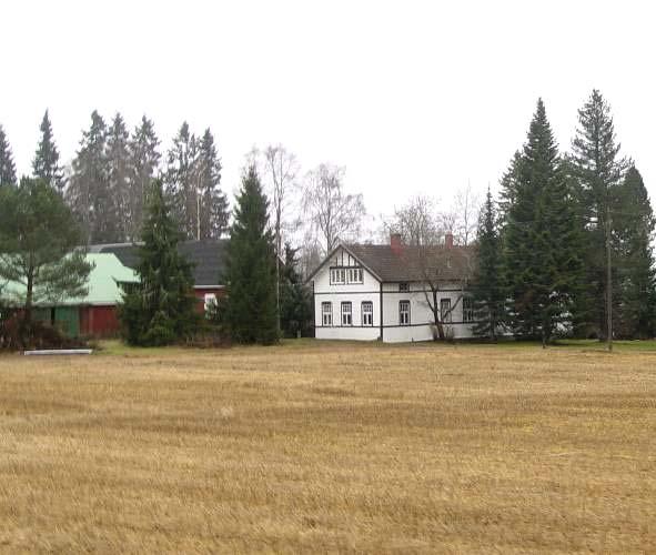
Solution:
<svg viewBox="0 0 656 555">
<path fill-rule="evenodd" d="M 203 239 L 201 241 L 183 241 L 178 244 L 178 251 L 193 268 L 194 285 L 216 286 L 222 284 L 225 268 L 226 239 Z M 90 252 L 109 252 L 115 254 L 121 263 L 128 268 L 139 264 L 139 245 L 132 243 L 114 243 L 92 245 Z"/>
</svg>

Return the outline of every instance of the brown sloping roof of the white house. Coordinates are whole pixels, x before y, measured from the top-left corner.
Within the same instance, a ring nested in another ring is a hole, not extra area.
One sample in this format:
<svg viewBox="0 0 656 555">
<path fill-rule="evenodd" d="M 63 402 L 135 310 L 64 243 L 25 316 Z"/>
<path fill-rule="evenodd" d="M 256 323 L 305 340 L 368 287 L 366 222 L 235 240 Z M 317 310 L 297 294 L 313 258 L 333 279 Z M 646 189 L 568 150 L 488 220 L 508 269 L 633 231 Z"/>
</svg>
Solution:
<svg viewBox="0 0 656 555">
<path fill-rule="evenodd" d="M 352 244 L 344 248 L 384 282 L 461 281 L 471 278 L 474 250 L 470 246 L 407 246 Z"/>
</svg>

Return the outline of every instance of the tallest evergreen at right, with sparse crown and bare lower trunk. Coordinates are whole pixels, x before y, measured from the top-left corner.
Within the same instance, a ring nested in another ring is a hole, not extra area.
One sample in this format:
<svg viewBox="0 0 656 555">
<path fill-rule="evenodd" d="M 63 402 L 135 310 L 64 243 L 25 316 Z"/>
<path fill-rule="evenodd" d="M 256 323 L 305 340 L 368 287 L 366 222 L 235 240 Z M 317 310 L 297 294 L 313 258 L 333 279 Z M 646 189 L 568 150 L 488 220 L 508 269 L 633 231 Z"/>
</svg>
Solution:
<svg viewBox="0 0 656 555">
<path fill-rule="evenodd" d="M 619 147 L 610 108 L 601 92 L 593 90 L 578 110 L 578 128 L 572 142 L 568 168 L 576 182 L 586 230 L 588 287 L 575 307 L 576 317 L 588 322 L 591 331 L 601 337 L 606 336 L 607 291 L 608 287 L 616 290 L 615 280 L 612 278 L 608 282 L 606 240 L 613 234 L 613 209 L 627 168 L 626 160 L 619 158 Z"/>
</svg>

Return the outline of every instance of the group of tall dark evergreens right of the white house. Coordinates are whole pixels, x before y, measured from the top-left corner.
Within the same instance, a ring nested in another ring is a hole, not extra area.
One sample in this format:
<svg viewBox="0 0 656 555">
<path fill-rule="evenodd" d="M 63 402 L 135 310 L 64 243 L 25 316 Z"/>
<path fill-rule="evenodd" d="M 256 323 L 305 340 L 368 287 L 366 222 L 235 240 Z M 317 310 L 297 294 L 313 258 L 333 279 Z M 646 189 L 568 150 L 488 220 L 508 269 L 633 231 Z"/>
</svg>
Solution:
<svg viewBox="0 0 656 555">
<path fill-rule="evenodd" d="M 488 192 L 473 283 L 476 332 L 539 339 L 653 337 L 655 220 L 643 178 L 619 154 L 598 91 L 561 152 L 542 100 L 527 139 Z M 610 334 L 610 335 L 608 335 Z"/>
</svg>

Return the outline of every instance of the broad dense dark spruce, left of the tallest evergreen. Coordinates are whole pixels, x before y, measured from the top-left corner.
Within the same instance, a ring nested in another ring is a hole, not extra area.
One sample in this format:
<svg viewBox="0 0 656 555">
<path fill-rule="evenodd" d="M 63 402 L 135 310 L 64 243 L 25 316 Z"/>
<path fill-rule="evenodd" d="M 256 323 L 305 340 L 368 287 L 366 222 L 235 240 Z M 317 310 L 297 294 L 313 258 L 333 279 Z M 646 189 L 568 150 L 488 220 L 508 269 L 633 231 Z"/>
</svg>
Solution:
<svg viewBox="0 0 656 555">
<path fill-rule="evenodd" d="M 542 100 L 519 168 L 504 235 L 509 317 L 516 334 L 546 344 L 571 317 L 582 265 L 573 199 Z"/>
</svg>

